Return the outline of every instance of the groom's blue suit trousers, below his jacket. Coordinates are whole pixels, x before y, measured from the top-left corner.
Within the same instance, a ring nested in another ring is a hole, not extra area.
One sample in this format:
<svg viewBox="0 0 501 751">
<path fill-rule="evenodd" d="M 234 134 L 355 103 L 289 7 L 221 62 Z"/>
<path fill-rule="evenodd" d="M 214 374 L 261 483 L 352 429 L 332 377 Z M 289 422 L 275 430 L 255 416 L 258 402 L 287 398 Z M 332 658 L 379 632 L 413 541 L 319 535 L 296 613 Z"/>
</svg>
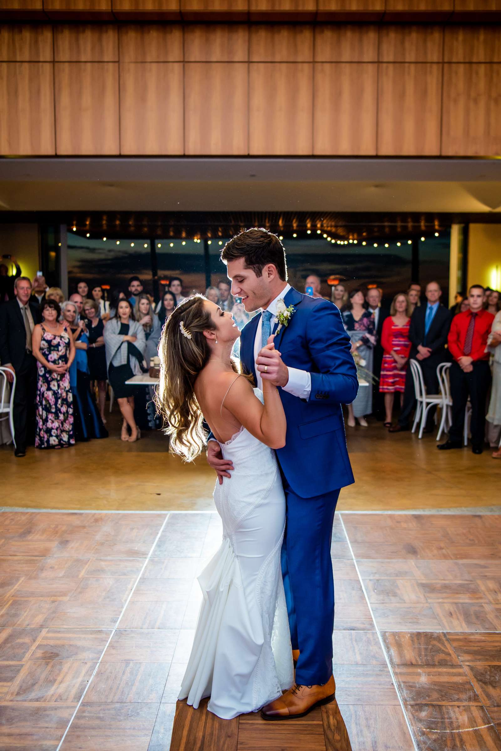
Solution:
<svg viewBox="0 0 501 751">
<path fill-rule="evenodd" d="M 300 650 L 296 682 L 327 683 L 332 675 L 334 581 L 330 543 L 340 490 L 300 498 L 284 479 L 287 522 L 282 577 L 293 650 Z"/>
</svg>

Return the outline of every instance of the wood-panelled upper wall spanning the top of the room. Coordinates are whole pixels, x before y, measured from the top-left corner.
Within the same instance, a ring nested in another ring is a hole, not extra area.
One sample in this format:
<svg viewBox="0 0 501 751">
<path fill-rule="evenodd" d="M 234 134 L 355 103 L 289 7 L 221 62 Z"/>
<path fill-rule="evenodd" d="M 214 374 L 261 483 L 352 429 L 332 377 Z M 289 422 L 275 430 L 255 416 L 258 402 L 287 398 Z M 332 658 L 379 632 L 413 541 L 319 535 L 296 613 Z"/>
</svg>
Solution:
<svg viewBox="0 0 501 751">
<path fill-rule="evenodd" d="M 501 26 L 0 25 L 0 153 L 501 155 Z"/>
</svg>

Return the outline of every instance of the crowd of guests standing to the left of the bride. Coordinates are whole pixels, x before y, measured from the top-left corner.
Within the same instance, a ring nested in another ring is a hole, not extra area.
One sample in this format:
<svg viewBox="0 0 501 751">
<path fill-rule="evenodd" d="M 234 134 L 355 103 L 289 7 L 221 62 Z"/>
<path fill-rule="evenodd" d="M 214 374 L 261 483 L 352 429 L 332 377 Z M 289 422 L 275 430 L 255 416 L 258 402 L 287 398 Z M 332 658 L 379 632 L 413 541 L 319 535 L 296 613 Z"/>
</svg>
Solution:
<svg viewBox="0 0 501 751">
<path fill-rule="evenodd" d="M 186 299 L 183 279 L 172 277 L 156 305 L 139 276 L 131 276 L 110 300 L 101 285 L 84 281 L 65 300 L 44 276 L 21 276 L 15 259 L 11 262 L 15 276 L 0 274 L 0 365 L 10 382 L 16 376 L 14 454 L 25 456 L 29 444 L 65 448 L 107 437 L 108 385 L 122 413 L 122 440 L 140 439 L 142 427 L 155 425 L 155 413 L 146 390 L 128 381 L 148 372 L 158 354 L 165 321 Z M 234 312 L 240 327 L 249 320 L 227 280 L 207 295 Z"/>
</svg>

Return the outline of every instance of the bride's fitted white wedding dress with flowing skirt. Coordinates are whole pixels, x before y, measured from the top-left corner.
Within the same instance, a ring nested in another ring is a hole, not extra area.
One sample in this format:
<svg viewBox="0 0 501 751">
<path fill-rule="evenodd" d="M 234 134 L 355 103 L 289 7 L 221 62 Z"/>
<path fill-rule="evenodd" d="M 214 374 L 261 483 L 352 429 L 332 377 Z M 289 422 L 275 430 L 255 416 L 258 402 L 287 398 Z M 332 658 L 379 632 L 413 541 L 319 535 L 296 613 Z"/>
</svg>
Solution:
<svg viewBox="0 0 501 751">
<path fill-rule="evenodd" d="M 263 401 L 262 393 L 255 395 Z M 280 569 L 285 496 L 272 449 L 244 427 L 220 444 L 234 463 L 216 483 L 222 545 L 198 577 L 204 595 L 180 699 L 223 719 L 255 712 L 293 683 Z"/>
</svg>

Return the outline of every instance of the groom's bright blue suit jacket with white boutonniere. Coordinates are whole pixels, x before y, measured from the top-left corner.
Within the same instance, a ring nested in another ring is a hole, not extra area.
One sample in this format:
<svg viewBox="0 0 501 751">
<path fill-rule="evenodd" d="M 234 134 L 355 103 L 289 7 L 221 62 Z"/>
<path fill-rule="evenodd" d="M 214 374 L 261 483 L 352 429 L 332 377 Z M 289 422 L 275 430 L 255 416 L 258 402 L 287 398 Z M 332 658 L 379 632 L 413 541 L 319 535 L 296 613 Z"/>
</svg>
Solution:
<svg viewBox="0 0 501 751">
<path fill-rule="evenodd" d="M 351 404 L 357 396 L 357 368 L 350 338 L 333 303 L 293 288 L 284 302 L 294 306 L 294 314 L 275 337 L 275 347 L 286 365 L 311 374 L 312 389 L 308 400 L 279 389 L 287 436 L 276 455 L 294 493 L 312 498 L 354 482 L 341 405 Z M 261 314 L 255 315 L 246 324 L 240 339 L 240 359 L 254 379 L 254 342 L 260 318 Z"/>
</svg>

